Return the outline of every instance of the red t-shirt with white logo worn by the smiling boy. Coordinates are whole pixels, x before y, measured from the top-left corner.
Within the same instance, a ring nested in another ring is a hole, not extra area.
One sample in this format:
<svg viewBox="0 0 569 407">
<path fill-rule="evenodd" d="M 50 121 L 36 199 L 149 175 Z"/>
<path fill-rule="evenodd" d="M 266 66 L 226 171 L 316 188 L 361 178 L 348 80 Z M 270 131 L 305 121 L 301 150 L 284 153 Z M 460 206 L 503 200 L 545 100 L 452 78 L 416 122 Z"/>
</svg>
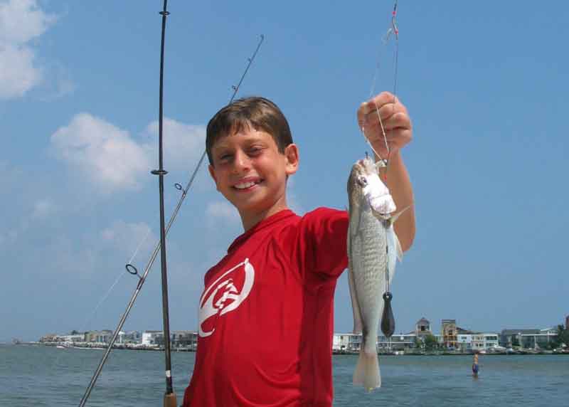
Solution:
<svg viewBox="0 0 569 407">
<path fill-rule="evenodd" d="M 336 279 L 348 214 L 285 210 L 230 245 L 206 273 L 184 407 L 332 405 Z"/>
</svg>

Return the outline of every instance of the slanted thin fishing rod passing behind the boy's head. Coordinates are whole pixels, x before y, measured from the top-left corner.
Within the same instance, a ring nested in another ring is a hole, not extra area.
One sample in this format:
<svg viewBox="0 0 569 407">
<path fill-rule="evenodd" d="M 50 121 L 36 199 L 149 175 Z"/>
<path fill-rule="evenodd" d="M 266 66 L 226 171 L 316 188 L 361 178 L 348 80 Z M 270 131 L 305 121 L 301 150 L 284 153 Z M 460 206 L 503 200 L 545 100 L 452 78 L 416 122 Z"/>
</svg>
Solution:
<svg viewBox="0 0 569 407">
<path fill-rule="evenodd" d="M 164 11 L 165 11 L 165 7 L 164 7 L 164 10 L 162 12 L 164 12 Z M 164 21 L 164 15 L 163 15 L 163 21 Z M 253 60 L 255 60 L 255 57 L 257 56 L 257 53 L 258 53 L 258 51 L 261 47 L 261 44 L 264 40 L 265 40 L 265 36 L 261 34 L 260 41 L 259 41 L 259 43 L 257 43 L 257 48 L 255 48 L 255 52 L 252 54 L 252 56 L 250 58 L 248 58 L 247 67 L 245 68 L 243 75 L 241 75 L 241 78 L 240 78 L 238 84 L 233 85 L 231 87 L 233 89 L 233 95 L 231 95 L 229 103 L 233 102 L 233 100 L 235 99 L 235 96 L 237 95 L 237 93 L 240 89 L 240 86 L 243 83 L 243 80 L 245 79 L 245 76 L 247 75 L 248 70 L 253 63 Z M 161 66 L 162 66 L 162 64 L 161 64 Z M 188 180 L 188 183 L 186 184 L 185 188 L 183 186 L 181 186 L 181 184 L 177 184 L 177 183 L 174 184 L 176 189 L 178 189 L 179 191 L 182 191 L 182 194 L 179 198 L 178 203 L 176 204 L 176 207 L 174 208 L 172 215 L 170 216 L 170 219 L 168 221 L 168 225 L 166 225 L 166 228 L 162 229 L 164 231 L 164 237 L 168 236 L 168 232 L 170 231 L 172 224 L 176 220 L 176 216 L 178 216 L 178 213 L 180 211 L 182 203 L 184 203 L 184 200 L 186 199 L 188 191 L 191 188 L 191 185 L 193 184 L 193 180 L 196 178 L 196 174 L 198 173 L 198 170 L 200 169 L 201 164 L 203 162 L 203 159 L 205 157 L 206 157 L 206 150 L 204 149 L 204 152 L 201 155 L 201 158 L 199 159 L 198 164 L 196 165 L 196 168 L 193 170 L 193 173 L 191 174 L 190 179 Z M 121 331 L 122 327 L 124 326 L 124 322 L 126 322 L 127 317 L 130 313 L 130 310 L 132 310 L 132 307 L 134 306 L 134 302 L 137 300 L 137 297 L 138 297 L 140 291 L 142 290 L 142 286 L 144 285 L 144 282 L 147 279 L 148 273 L 150 272 L 152 265 L 154 265 L 154 260 L 156 260 L 156 256 L 158 255 L 159 250 L 161 250 L 161 246 L 162 246 L 161 241 L 159 241 L 156 244 L 154 251 L 150 255 L 150 258 L 148 260 L 146 267 L 144 268 L 142 275 L 139 274 L 137 268 L 134 267 L 134 265 L 132 265 L 131 263 L 127 263 L 127 265 L 124 266 L 126 268 L 127 272 L 132 274 L 132 275 L 136 275 L 139 278 L 139 281 L 137 283 L 137 287 L 134 289 L 134 292 L 132 293 L 132 296 L 131 296 L 128 304 L 127 304 L 126 310 L 124 310 L 124 313 L 122 314 L 122 316 L 119 320 L 119 323 L 117 324 L 117 327 L 115 328 L 115 332 L 113 332 L 113 334 L 112 334 L 109 345 L 107 346 L 107 349 L 105 349 L 105 354 L 103 354 L 101 361 L 99 362 L 97 369 L 95 369 L 95 373 L 93 374 L 91 381 L 90 381 L 89 385 L 87 386 L 85 393 L 83 394 L 83 398 L 81 398 L 81 401 L 79 403 L 79 407 L 83 407 L 83 406 L 85 406 L 85 403 L 87 403 L 87 399 L 89 398 L 89 396 L 91 394 L 92 388 L 95 386 L 95 383 L 97 382 L 97 379 L 99 378 L 99 376 L 101 374 L 102 368 L 103 368 L 103 366 L 105 366 L 105 362 L 107 361 L 107 359 L 110 355 L 110 352 L 112 351 L 112 347 L 115 344 L 115 342 L 117 341 L 117 337 L 119 336 L 119 332 Z M 166 396 L 164 396 L 164 399 L 166 401 Z M 172 399 L 172 397 L 169 396 L 169 401 L 171 401 L 171 399 Z M 175 403 L 175 401 L 174 401 L 174 403 Z M 175 404 L 174 404 L 174 406 L 175 406 Z"/>
</svg>

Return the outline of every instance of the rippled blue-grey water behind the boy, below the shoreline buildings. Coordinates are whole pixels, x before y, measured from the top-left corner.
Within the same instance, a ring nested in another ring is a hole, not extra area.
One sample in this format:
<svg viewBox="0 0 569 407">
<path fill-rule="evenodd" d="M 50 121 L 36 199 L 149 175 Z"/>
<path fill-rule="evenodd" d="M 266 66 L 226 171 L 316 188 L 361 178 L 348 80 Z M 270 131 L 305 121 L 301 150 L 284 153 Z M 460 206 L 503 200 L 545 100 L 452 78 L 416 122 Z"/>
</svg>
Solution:
<svg viewBox="0 0 569 407">
<path fill-rule="evenodd" d="M 0 406 L 78 406 L 102 356 L 100 350 L 0 346 Z M 174 352 L 178 401 L 195 354 Z M 569 406 L 569 356 L 383 356 L 383 387 L 351 386 L 356 356 L 334 356 L 335 407 Z M 112 351 L 87 406 L 156 407 L 164 395 L 164 354 Z"/>
</svg>

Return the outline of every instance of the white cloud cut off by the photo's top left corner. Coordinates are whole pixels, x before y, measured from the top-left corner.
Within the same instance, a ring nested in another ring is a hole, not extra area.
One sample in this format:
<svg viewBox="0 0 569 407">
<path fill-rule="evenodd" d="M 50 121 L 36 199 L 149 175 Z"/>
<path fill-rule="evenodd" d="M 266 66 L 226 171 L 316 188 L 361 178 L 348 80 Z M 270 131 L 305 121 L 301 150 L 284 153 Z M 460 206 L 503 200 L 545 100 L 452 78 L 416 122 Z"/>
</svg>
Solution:
<svg viewBox="0 0 569 407">
<path fill-rule="evenodd" d="M 28 42 L 41 36 L 55 21 L 36 0 L 0 4 L 0 99 L 21 97 L 41 83 L 43 72 L 34 64 Z"/>
</svg>

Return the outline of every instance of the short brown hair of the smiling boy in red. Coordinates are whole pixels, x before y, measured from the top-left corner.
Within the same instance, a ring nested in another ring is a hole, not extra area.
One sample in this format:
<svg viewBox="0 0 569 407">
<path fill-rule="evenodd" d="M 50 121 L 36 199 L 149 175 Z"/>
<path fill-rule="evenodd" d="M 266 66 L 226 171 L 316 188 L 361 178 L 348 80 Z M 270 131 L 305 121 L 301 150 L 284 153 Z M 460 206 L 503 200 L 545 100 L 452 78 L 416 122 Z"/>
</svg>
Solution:
<svg viewBox="0 0 569 407">
<path fill-rule="evenodd" d="M 211 149 L 218 139 L 252 127 L 267 132 L 275 139 L 280 153 L 292 144 L 289 123 L 280 109 L 265 97 L 243 97 L 223 107 L 208 123 L 206 130 L 206 152 L 213 165 Z"/>
</svg>

